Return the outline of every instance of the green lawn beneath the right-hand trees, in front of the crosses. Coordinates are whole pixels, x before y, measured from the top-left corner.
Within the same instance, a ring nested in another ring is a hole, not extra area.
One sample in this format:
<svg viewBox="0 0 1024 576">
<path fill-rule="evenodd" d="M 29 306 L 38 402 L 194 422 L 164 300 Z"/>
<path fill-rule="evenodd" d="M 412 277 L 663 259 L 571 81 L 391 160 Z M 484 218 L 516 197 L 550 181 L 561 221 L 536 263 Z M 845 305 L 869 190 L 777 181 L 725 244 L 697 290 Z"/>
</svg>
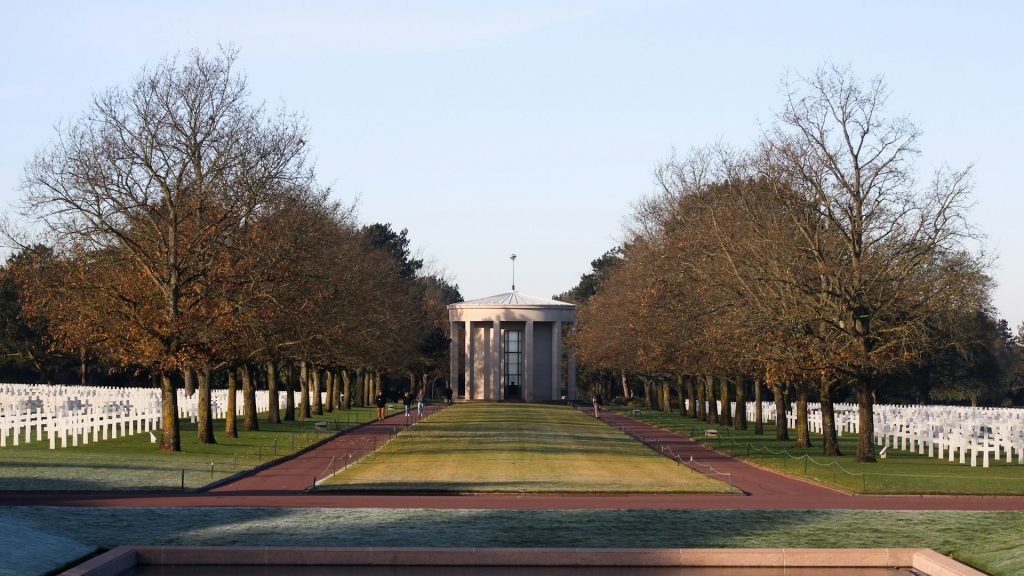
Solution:
<svg viewBox="0 0 1024 576">
<path fill-rule="evenodd" d="M 617 409 L 625 411 L 625 409 Z M 821 455 L 821 436 L 811 434 L 811 448 L 794 448 L 794 441 L 775 440 L 774 422 L 765 422 L 765 434 L 754 435 L 754 424 L 749 429 L 736 430 L 731 426 L 708 424 L 702 420 L 681 416 L 678 412 L 663 413 L 641 410 L 634 418 L 658 427 L 689 436 L 720 452 L 736 456 L 753 464 L 772 468 L 786 475 L 805 478 L 820 484 L 858 494 L 971 494 L 971 495 L 1024 495 L 1024 465 L 1016 456 L 1007 463 L 1005 457 L 991 461 L 988 468 L 971 467 L 968 463 L 953 462 L 948 456 L 930 458 L 889 447 L 886 458 L 876 463 L 858 464 L 853 461 L 857 451 L 857 437 L 846 434 L 840 437 L 838 458 Z M 706 438 L 703 430 L 715 428 L 718 438 Z M 791 439 L 794 430 L 790 430 Z M 877 447 L 881 450 L 881 446 Z"/>
</svg>

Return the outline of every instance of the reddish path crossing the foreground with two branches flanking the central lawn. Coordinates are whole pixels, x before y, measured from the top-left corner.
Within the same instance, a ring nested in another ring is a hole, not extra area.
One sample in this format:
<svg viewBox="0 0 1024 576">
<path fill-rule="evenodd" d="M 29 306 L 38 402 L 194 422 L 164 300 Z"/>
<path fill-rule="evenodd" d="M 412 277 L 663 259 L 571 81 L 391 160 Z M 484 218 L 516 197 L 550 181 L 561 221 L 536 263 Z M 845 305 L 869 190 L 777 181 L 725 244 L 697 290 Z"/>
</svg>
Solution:
<svg viewBox="0 0 1024 576">
<path fill-rule="evenodd" d="M 430 408 L 432 410 L 437 407 Z M 402 415 L 344 433 L 325 445 L 251 476 L 198 493 L 13 493 L 0 494 L 0 505 L 60 506 L 254 506 L 342 508 L 466 509 L 908 509 L 1024 510 L 1018 496 L 856 496 L 746 464 L 686 437 L 629 416 L 606 413 L 602 419 L 670 451 L 684 461 L 710 464 L 743 494 L 325 494 L 306 493 L 313 478 L 340 468 L 406 426 Z M 415 420 L 415 417 L 412 418 Z M 333 464 L 332 464 L 333 461 Z M 703 470 L 706 466 L 691 467 Z"/>
</svg>

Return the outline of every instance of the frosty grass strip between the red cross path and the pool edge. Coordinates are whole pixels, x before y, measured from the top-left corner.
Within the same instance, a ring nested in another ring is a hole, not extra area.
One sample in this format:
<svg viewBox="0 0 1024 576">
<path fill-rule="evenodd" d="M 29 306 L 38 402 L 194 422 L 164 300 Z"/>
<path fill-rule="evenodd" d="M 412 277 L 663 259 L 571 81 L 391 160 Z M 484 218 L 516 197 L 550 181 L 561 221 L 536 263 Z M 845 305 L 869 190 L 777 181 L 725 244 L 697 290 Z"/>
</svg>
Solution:
<svg viewBox="0 0 1024 576">
<path fill-rule="evenodd" d="M 873 510 L 0 509 L 0 526 L 81 546 L 931 547 L 994 576 L 1024 574 L 1024 512 Z M 0 541 L 0 574 L 12 565 Z M 49 544 L 47 544 L 49 545 Z M 74 548 L 79 550 L 81 548 Z M 49 548 L 47 548 L 49 550 Z M 49 552 L 47 552 L 49 553 Z M 71 560 L 69 550 L 61 560 Z M 31 558 L 23 554 L 20 558 Z"/>
</svg>

